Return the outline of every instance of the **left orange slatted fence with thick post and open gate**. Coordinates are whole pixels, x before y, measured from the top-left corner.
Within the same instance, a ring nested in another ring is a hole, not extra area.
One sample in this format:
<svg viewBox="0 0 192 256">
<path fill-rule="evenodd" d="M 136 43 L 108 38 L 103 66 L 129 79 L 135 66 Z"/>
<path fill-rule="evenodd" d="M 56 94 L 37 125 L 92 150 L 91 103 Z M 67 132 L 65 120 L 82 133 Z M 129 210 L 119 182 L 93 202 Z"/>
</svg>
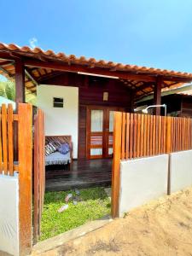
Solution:
<svg viewBox="0 0 192 256">
<path fill-rule="evenodd" d="M 44 206 L 44 113 L 38 109 L 34 117 L 34 147 L 32 165 L 32 105 L 3 104 L 0 109 L 0 174 L 19 173 L 20 255 L 32 251 L 32 166 L 33 166 L 33 241 L 40 235 Z"/>
</svg>

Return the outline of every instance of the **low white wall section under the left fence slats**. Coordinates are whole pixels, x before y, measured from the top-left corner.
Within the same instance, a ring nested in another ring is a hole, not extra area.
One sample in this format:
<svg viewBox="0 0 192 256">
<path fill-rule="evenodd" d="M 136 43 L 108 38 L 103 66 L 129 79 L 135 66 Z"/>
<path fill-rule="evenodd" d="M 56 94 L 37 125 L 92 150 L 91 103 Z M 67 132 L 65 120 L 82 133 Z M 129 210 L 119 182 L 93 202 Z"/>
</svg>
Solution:
<svg viewBox="0 0 192 256">
<path fill-rule="evenodd" d="M 18 176 L 0 175 L 0 251 L 19 255 Z"/>
</svg>

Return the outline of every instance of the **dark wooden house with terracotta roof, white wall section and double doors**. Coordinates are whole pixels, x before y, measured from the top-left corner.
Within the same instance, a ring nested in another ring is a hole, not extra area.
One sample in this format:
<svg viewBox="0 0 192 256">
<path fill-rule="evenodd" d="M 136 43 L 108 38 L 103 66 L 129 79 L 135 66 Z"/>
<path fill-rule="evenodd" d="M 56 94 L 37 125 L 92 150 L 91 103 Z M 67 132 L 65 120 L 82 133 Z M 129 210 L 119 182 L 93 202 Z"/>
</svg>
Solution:
<svg viewBox="0 0 192 256">
<path fill-rule="evenodd" d="M 113 155 L 113 112 L 132 112 L 134 104 L 154 93 L 192 81 L 191 73 L 96 61 L 52 50 L 0 44 L 0 73 L 15 76 L 16 102 L 25 87 L 37 94 L 45 113 L 45 135 L 71 135 L 74 159 Z M 155 109 L 160 114 L 160 108 Z"/>
</svg>

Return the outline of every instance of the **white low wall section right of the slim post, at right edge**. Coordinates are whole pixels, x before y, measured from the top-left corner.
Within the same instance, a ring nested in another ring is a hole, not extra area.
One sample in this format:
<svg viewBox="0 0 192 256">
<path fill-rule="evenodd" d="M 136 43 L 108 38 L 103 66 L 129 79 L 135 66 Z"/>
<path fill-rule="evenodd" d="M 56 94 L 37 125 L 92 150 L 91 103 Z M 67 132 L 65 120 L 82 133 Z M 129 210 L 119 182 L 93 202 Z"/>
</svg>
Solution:
<svg viewBox="0 0 192 256">
<path fill-rule="evenodd" d="M 172 153 L 171 193 L 192 186 L 192 150 Z"/>
</svg>

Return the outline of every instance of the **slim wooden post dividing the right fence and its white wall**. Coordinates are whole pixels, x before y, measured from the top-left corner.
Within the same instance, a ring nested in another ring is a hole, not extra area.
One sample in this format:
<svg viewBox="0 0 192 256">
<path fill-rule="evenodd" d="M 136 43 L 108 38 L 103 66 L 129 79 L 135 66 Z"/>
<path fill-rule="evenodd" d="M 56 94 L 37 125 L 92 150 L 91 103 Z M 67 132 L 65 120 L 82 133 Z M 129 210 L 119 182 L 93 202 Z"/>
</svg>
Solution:
<svg viewBox="0 0 192 256">
<path fill-rule="evenodd" d="M 168 154 L 167 195 L 171 194 L 172 118 L 166 117 L 166 154 Z"/>
</svg>

